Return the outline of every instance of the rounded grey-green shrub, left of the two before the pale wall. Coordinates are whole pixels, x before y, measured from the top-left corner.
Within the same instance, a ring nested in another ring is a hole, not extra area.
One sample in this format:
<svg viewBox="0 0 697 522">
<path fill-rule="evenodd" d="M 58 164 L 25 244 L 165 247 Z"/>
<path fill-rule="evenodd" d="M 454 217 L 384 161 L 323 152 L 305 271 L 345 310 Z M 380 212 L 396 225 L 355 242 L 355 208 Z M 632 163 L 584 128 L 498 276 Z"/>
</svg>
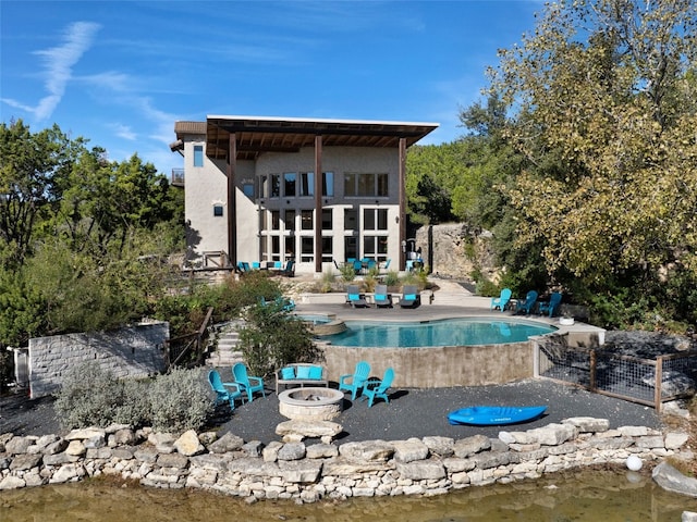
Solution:
<svg viewBox="0 0 697 522">
<path fill-rule="evenodd" d="M 65 428 L 107 427 L 122 402 L 123 385 L 96 362 L 86 362 L 65 373 L 54 409 Z"/>
</svg>

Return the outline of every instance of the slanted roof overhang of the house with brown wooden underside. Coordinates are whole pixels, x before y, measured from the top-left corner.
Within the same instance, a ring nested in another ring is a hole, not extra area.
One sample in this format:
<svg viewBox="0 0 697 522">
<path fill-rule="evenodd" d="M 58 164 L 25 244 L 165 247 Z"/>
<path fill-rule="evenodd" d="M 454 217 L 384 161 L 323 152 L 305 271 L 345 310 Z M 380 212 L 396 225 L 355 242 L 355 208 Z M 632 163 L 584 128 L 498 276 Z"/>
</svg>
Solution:
<svg viewBox="0 0 697 522">
<path fill-rule="evenodd" d="M 322 137 L 323 147 L 409 147 L 438 128 L 437 123 L 365 120 L 309 120 L 267 116 L 209 115 L 206 122 L 176 122 L 178 139 L 185 134 L 206 135 L 206 156 L 225 160 L 230 135 L 235 135 L 237 160 L 254 160 L 262 152 L 297 152 Z M 174 144 L 173 144 L 174 145 Z M 173 149 L 174 150 L 174 149 Z"/>
</svg>

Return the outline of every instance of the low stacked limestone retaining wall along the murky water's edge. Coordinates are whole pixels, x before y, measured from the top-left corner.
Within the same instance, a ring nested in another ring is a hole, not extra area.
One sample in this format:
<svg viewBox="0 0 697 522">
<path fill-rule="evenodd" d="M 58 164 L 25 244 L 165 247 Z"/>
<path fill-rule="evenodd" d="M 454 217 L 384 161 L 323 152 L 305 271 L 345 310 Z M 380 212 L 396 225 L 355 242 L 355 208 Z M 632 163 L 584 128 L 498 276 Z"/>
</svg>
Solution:
<svg viewBox="0 0 697 522">
<path fill-rule="evenodd" d="M 644 426 L 609 428 L 604 419 L 573 418 L 499 437 L 431 436 L 343 445 L 272 442 L 225 434 L 180 437 L 129 426 L 57 435 L 0 436 L 0 490 L 118 475 L 146 486 L 211 489 L 255 499 L 314 502 L 384 495 L 438 495 L 468 486 L 536 478 L 543 473 L 651 463 L 677 453 L 685 433 Z"/>
</svg>

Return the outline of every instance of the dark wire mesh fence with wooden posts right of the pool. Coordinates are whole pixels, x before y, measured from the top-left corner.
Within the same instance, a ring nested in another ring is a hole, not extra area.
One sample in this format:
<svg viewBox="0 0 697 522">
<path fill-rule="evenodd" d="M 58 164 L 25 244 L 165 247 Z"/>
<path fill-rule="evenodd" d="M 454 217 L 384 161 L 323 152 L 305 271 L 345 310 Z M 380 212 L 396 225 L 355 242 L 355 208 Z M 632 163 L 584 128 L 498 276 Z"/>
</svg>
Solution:
<svg viewBox="0 0 697 522">
<path fill-rule="evenodd" d="M 652 406 L 657 411 L 663 402 L 695 393 L 695 350 L 643 359 L 607 349 L 568 346 L 563 335 L 537 339 L 535 345 L 535 374 L 540 377 Z"/>
</svg>

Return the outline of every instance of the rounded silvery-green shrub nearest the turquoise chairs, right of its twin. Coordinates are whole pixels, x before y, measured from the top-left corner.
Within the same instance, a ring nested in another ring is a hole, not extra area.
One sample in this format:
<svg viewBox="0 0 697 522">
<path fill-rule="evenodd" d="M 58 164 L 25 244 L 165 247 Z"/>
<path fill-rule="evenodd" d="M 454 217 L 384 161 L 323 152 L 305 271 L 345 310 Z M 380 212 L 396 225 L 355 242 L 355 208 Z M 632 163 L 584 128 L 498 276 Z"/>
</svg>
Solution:
<svg viewBox="0 0 697 522">
<path fill-rule="evenodd" d="M 198 430 L 212 413 L 215 402 L 205 370 L 173 369 L 148 387 L 152 428 L 173 433 Z"/>
</svg>

